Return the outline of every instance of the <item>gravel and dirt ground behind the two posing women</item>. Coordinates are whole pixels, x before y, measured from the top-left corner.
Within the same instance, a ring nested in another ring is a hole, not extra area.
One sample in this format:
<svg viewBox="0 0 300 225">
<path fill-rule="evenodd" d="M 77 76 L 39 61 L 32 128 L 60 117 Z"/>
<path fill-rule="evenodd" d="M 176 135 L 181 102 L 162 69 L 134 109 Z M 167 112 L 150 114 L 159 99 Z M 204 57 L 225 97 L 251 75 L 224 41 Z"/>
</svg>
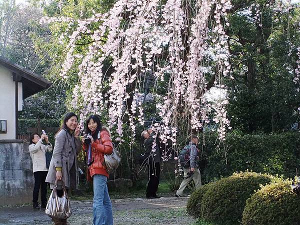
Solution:
<svg viewBox="0 0 300 225">
<path fill-rule="evenodd" d="M 114 224 L 192 224 L 194 219 L 186 213 L 187 197 L 161 197 L 156 199 L 112 199 Z M 92 201 L 72 200 L 70 225 L 92 224 Z M 53 224 L 44 210 L 31 205 L 0 208 L 0 224 Z"/>
</svg>

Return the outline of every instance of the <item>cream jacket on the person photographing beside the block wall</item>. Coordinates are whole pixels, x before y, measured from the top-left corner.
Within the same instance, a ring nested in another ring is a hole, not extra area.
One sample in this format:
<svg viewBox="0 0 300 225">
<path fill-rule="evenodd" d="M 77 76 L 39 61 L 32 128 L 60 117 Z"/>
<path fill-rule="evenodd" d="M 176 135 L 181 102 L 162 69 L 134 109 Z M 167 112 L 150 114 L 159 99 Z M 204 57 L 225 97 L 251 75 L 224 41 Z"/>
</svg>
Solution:
<svg viewBox="0 0 300 225">
<path fill-rule="evenodd" d="M 42 144 L 42 140 L 39 139 L 36 144 L 29 145 L 29 152 L 32 159 L 32 170 L 36 171 L 48 171 L 46 168 L 46 151 L 52 151 L 52 145 Z"/>
</svg>

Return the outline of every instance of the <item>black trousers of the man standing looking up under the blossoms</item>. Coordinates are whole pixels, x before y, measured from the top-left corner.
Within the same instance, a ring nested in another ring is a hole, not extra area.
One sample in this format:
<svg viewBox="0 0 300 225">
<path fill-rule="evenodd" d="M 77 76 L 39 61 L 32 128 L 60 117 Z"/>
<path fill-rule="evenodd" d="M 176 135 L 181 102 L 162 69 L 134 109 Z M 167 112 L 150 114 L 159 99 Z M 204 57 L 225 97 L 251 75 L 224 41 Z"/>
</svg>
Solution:
<svg viewBox="0 0 300 225">
<path fill-rule="evenodd" d="M 160 165 L 159 162 L 149 160 L 148 162 L 148 185 L 146 189 L 146 197 L 155 197 L 159 184 Z"/>
</svg>

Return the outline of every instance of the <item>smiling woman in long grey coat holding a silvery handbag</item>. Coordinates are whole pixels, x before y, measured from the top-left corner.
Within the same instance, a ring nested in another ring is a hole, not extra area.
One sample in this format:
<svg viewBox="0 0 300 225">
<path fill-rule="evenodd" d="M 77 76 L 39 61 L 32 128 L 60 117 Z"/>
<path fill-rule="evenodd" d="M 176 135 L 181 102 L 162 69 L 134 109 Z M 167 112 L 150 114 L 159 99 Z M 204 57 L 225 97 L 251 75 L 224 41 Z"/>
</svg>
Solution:
<svg viewBox="0 0 300 225">
<path fill-rule="evenodd" d="M 76 183 L 76 154 L 81 149 L 79 140 L 80 127 L 77 122 L 77 115 L 73 112 L 65 114 L 61 129 L 55 136 L 52 159 L 49 165 L 46 182 L 50 183 L 53 188 L 55 180 L 57 180 L 57 195 L 62 196 L 62 184 L 68 190 L 69 187 L 75 189 Z M 64 225 L 66 219 L 54 219 L 54 224 Z"/>
</svg>

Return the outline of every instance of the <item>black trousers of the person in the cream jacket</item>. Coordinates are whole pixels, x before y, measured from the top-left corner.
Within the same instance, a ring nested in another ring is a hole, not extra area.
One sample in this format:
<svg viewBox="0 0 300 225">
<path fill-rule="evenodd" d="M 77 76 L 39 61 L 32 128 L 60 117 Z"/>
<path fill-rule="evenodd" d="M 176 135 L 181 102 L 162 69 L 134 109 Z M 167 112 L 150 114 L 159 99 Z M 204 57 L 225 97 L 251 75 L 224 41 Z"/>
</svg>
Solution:
<svg viewBox="0 0 300 225">
<path fill-rule="evenodd" d="M 36 171 L 34 174 L 33 203 L 38 202 L 38 192 L 40 188 L 40 200 L 47 203 L 47 184 L 45 182 L 48 171 Z"/>
</svg>

